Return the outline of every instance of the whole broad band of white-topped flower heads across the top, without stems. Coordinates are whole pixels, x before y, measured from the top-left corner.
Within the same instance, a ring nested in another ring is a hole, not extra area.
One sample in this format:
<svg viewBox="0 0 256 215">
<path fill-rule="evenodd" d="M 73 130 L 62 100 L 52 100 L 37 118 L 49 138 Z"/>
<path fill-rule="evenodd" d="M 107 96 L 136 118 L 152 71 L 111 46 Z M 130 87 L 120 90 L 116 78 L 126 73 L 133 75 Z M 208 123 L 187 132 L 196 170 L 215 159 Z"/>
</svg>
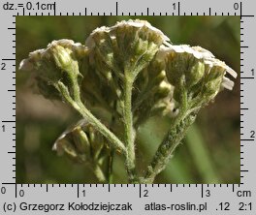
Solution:
<svg viewBox="0 0 256 215">
<path fill-rule="evenodd" d="M 135 123 L 150 115 L 172 113 L 185 90 L 189 100 L 206 105 L 234 82 L 235 71 L 200 46 L 175 46 L 147 21 L 120 21 L 95 29 L 85 45 L 53 41 L 29 54 L 21 70 L 35 72 L 41 93 L 66 94 L 89 107 L 121 117 L 125 82 L 130 82 Z M 64 95 L 63 95 L 64 94 Z M 144 112 L 144 114 L 141 114 Z"/>
</svg>

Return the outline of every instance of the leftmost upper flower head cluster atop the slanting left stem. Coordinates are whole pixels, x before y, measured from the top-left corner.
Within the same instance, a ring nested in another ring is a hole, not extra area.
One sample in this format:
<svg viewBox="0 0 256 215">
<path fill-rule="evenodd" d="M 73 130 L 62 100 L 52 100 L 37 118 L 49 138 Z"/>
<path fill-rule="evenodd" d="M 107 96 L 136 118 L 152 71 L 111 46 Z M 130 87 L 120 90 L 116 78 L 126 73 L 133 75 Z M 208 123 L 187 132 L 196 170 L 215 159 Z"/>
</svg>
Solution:
<svg viewBox="0 0 256 215">
<path fill-rule="evenodd" d="M 22 60 L 20 70 L 35 73 L 37 85 L 41 93 L 48 98 L 61 98 L 59 81 L 74 97 L 79 85 L 79 63 L 74 52 L 78 44 L 70 40 L 53 41 L 45 49 L 39 49 L 29 54 L 29 58 Z M 81 48 L 81 47 L 80 47 Z M 80 50 L 81 52 L 81 50 Z"/>
</svg>

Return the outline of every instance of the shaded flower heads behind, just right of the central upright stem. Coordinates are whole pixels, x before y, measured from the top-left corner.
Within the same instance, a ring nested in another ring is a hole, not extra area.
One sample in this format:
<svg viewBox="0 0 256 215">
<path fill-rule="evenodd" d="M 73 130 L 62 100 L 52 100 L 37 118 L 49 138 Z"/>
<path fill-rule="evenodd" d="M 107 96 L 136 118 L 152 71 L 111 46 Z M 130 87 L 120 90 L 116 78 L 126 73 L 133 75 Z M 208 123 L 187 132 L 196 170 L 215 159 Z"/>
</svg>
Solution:
<svg viewBox="0 0 256 215">
<path fill-rule="evenodd" d="M 154 58 L 134 83 L 133 110 L 138 124 L 143 123 L 148 115 L 161 114 L 167 105 L 162 103 L 159 107 L 161 101 L 172 98 L 173 87 L 167 81 L 164 67 L 163 61 Z"/>
</svg>

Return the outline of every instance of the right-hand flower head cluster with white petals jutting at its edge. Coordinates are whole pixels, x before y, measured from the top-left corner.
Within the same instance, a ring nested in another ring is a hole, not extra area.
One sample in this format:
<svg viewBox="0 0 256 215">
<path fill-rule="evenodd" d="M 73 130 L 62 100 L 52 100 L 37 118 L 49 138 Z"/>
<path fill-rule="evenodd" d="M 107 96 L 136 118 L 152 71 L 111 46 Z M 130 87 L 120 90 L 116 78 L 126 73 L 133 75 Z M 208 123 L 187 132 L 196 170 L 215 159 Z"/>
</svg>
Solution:
<svg viewBox="0 0 256 215">
<path fill-rule="evenodd" d="M 204 104 L 207 104 L 222 87 L 232 89 L 234 82 L 225 77 L 226 73 L 237 77 L 235 71 L 200 46 L 161 46 L 157 55 L 157 58 L 165 59 L 166 74 L 175 86 L 174 98 L 178 103 L 185 90 L 187 99 L 197 97 L 199 101 L 198 97 L 202 97 Z"/>
</svg>

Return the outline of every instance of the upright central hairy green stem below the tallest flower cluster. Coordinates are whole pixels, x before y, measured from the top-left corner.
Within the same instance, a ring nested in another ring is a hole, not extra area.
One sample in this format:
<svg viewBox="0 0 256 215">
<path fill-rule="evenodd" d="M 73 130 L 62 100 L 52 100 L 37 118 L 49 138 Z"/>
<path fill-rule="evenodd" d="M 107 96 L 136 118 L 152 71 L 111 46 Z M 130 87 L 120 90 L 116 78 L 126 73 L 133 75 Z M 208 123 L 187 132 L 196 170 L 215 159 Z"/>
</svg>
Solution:
<svg viewBox="0 0 256 215">
<path fill-rule="evenodd" d="M 124 80 L 124 104 L 123 104 L 123 121 L 124 121 L 124 139 L 126 143 L 126 169 L 129 182 L 134 183 L 136 179 L 135 169 L 135 146 L 133 131 L 133 113 L 132 113 L 132 78 L 126 77 Z"/>
</svg>

